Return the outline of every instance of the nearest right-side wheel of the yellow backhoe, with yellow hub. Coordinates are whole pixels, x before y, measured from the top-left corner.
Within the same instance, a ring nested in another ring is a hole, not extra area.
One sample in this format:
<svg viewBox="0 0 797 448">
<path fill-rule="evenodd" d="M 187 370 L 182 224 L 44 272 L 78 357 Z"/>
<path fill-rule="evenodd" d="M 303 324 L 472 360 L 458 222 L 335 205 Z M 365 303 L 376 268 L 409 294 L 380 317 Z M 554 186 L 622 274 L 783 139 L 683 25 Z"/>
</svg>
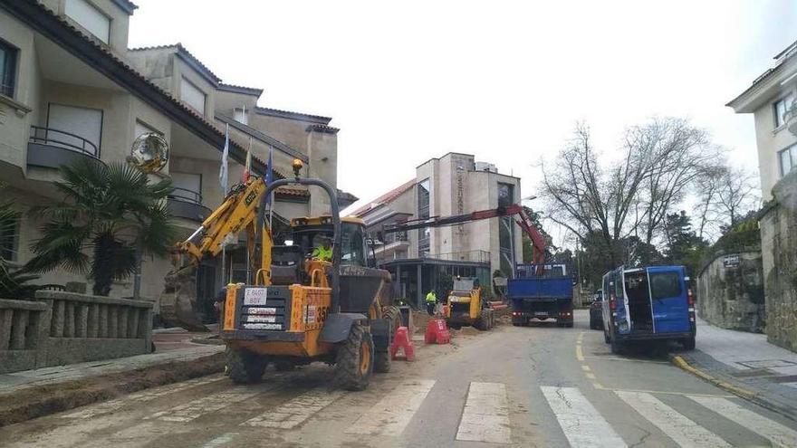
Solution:
<svg viewBox="0 0 797 448">
<path fill-rule="evenodd" d="M 352 324 L 349 338 L 335 357 L 335 386 L 346 390 L 365 390 L 373 372 L 373 339 L 365 327 Z"/>
</svg>

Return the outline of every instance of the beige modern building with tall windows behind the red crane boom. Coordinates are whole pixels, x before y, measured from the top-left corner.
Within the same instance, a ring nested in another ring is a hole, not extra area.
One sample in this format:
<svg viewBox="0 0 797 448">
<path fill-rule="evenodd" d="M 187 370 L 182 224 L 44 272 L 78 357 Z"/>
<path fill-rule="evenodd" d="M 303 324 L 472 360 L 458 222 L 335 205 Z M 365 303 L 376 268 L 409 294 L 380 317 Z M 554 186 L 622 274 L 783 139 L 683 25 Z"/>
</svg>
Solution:
<svg viewBox="0 0 797 448">
<path fill-rule="evenodd" d="M 399 296 L 420 303 L 446 275 L 510 276 L 521 260 L 523 235 L 512 218 L 389 234 L 384 224 L 466 214 L 520 202 L 520 179 L 500 174 L 469 154 L 448 153 L 416 167 L 415 177 L 357 209 L 376 243 L 379 263 L 394 275 Z"/>
</svg>

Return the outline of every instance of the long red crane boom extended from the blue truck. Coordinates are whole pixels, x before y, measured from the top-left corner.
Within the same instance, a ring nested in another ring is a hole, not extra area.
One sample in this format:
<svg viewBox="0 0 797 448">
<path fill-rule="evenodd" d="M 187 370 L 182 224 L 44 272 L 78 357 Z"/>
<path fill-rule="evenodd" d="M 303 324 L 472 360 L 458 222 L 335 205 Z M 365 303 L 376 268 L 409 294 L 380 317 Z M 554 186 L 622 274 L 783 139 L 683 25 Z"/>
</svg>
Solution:
<svg viewBox="0 0 797 448">
<path fill-rule="evenodd" d="M 533 263 L 542 264 L 545 262 L 545 239 L 543 235 L 534 227 L 534 221 L 527 214 L 523 207 L 517 204 L 509 205 L 506 207 L 491 208 L 488 210 L 479 210 L 466 214 L 452 214 L 450 216 L 431 216 L 424 219 L 410 219 L 403 223 L 385 224 L 384 233 L 394 234 L 397 232 L 406 232 L 413 229 L 422 229 L 426 227 L 445 227 L 447 225 L 469 223 L 471 221 L 479 221 L 482 219 L 497 218 L 501 216 L 514 216 L 518 215 L 520 219 L 515 219 L 515 222 L 520 225 L 523 232 L 529 235 L 533 245 Z"/>
</svg>

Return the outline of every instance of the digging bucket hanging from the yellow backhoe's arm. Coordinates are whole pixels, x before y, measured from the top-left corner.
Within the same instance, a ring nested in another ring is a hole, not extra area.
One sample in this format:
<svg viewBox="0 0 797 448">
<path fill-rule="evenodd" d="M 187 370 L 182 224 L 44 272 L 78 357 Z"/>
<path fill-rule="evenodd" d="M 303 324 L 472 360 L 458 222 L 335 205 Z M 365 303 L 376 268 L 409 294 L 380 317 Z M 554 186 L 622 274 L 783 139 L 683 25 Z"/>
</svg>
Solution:
<svg viewBox="0 0 797 448">
<path fill-rule="evenodd" d="M 187 266 L 168 272 L 164 281 L 159 300 L 164 324 L 188 331 L 210 331 L 197 317 L 197 268 Z"/>
</svg>

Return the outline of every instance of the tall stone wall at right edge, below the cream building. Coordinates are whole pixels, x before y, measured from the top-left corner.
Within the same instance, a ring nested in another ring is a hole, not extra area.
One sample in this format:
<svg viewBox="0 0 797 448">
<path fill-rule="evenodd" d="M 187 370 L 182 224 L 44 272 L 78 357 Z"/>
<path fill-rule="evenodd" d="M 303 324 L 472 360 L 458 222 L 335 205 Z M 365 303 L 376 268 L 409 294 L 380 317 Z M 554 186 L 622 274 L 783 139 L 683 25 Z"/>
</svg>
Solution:
<svg viewBox="0 0 797 448">
<path fill-rule="evenodd" d="M 797 351 L 797 170 L 772 189 L 759 214 L 767 340 Z"/>
</svg>

